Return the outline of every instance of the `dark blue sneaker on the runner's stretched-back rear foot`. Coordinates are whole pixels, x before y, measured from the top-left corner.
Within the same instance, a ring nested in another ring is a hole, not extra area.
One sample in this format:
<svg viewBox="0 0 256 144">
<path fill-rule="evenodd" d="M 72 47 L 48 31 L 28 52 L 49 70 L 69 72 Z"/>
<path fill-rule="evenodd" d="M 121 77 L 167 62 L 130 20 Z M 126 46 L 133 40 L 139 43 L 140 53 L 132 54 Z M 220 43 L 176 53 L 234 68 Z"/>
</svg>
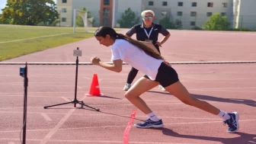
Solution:
<svg viewBox="0 0 256 144">
<path fill-rule="evenodd" d="M 223 121 L 224 125 L 228 124 L 228 133 L 235 133 L 239 129 L 239 114 L 238 112 L 228 113 L 230 116 L 229 120 Z"/>
</svg>

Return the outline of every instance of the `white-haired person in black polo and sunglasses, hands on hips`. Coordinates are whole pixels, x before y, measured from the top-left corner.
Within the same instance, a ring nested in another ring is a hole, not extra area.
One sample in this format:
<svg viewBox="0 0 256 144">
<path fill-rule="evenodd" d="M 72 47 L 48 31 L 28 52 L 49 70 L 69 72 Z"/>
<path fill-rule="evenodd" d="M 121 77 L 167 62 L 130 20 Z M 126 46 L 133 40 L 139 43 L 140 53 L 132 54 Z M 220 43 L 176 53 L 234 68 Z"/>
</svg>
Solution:
<svg viewBox="0 0 256 144">
<path fill-rule="evenodd" d="M 137 40 L 153 43 L 155 49 L 158 50 L 158 52 L 160 53 L 159 46 L 162 46 L 162 44 L 165 43 L 166 40 L 168 40 L 171 34 L 168 32 L 168 30 L 165 29 L 165 27 L 162 27 L 161 24 L 154 24 L 152 22 L 155 17 L 154 11 L 142 11 L 141 16 L 143 23 L 133 26 L 126 33 L 126 37 L 132 37 L 133 34 L 136 34 Z M 162 34 L 163 36 L 165 36 L 160 42 L 158 42 L 158 34 Z M 124 85 L 123 87 L 124 91 L 127 91 L 131 87 L 133 79 L 136 77 L 137 73 L 138 70 L 135 68 L 132 68 L 130 70 L 126 85 Z M 162 85 L 159 85 L 159 88 L 165 91 L 165 88 L 162 88 Z"/>
</svg>

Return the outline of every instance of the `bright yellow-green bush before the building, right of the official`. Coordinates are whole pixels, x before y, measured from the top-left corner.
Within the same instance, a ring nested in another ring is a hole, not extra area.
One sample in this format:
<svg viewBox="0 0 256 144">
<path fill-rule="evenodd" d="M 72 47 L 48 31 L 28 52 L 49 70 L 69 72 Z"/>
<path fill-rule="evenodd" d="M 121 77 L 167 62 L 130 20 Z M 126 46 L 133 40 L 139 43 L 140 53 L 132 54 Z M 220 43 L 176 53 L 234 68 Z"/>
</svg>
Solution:
<svg viewBox="0 0 256 144">
<path fill-rule="evenodd" d="M 227 18 L 221 16 L 219 13 L 213 14 L 206 24 L 204 24 L 204 30 L 229 30 L 230 23 Z"/>
</svg>

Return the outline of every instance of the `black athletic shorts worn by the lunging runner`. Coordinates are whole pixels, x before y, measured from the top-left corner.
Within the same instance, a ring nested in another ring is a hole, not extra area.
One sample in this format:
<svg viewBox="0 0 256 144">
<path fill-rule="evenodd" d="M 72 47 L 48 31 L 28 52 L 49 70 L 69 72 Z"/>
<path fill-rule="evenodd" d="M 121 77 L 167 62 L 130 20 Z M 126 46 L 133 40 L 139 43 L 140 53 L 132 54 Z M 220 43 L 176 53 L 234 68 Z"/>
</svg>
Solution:
<svg viewBox="0 0 256 144">
<path fill-rule="evenodd" d="M 145 78 L 148 78 L 148 75 L 144 75 Z M 155 81 L 159 82 L 162 87 L 168 87 L 169 85 L 174 84 L 175 82 L 178 82 L 178 74 L 171 66 L 168 66 L 165 64 L 165 62 L 162 62 L 161 65 L 158 68 L 158 73 L 155 77 Z"/>
</svg>

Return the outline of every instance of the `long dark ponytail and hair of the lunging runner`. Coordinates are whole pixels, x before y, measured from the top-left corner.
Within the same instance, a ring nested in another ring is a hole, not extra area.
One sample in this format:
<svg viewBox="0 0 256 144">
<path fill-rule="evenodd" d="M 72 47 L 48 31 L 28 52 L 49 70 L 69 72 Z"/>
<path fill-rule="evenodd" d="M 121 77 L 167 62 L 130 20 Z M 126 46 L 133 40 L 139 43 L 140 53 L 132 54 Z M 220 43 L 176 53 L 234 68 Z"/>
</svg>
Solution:
<svg viewBox="0 0 256 144">
<path fill-rule="evenodd" d="M 149 46 L 146 46 L 144 43 L 139 42 L 138 40 L 133 40 L 130 37 L 126 37 L 123 34 L 117 34 L 117 32 L 112 27 L 99 27 L 98 30 L 95 31 L 95 37 L 106 37 L 110 35 L 110 37 L 114 40 L 122 39 L 126 40 L 129 43 L 132 43 L 134 46 L 137 46 L 140 50 L 143 50 L 147 55 L 152 56 L 155 59 L 164 59 L 160 54 L 155 53 Z"/>
</svg>

